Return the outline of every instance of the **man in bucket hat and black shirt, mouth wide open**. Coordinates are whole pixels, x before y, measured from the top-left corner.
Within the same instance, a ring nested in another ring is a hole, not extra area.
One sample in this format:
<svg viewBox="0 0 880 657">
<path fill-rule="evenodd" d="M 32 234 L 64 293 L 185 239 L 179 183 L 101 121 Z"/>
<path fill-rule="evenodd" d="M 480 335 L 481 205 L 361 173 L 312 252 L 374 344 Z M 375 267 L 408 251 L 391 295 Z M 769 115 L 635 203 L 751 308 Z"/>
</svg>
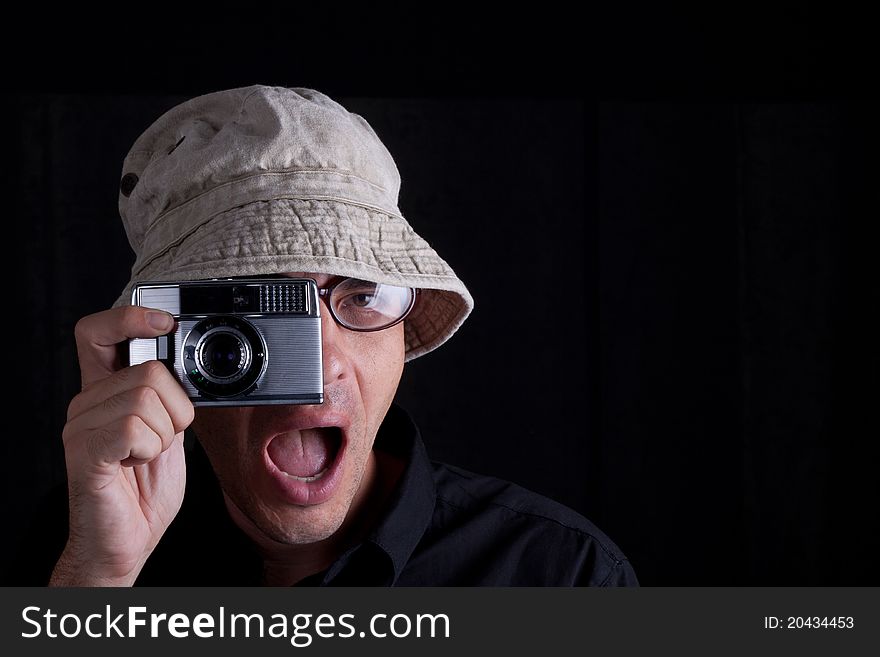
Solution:
<svg viewBox="0 0 880 657">
<path fill-rule="evenodd" d="M 405 361 L 473 307 L 401 216 L 399 187 L 366 121 L 309 89 L 194 98 L 136 141 L 119 197 L 132 280 L 76 328 L 69 531 L 50 584 L 637 583 L 570 509 L 430 463 L 393 405 Z M 194 409 L 161 363 L 123 366 L 129 339 L 174 326 L 127 305 L 134 283 L 265 275 L 322 290 L 323 404 Z M 398 300 L 381 321 L 346 319 L 346 303 L 380 297 Z"/>
</svg>

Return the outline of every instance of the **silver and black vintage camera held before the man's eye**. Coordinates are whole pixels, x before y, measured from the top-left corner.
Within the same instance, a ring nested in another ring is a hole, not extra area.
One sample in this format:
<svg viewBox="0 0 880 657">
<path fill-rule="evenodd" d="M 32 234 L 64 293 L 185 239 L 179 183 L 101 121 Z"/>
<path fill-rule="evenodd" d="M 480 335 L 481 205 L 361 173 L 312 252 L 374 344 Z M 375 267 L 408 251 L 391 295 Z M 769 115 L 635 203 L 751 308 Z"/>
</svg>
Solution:
<svg viewBox="0 0 880 657">
<path fill-rule="evenodd" d="M 320 404 L 321 316 L 309 278 L 138 283 L 132 305 L 164 310 L 173 333 L 129 340 L 129 364 L 163 361 L 195 406 Z"/>
</svg>

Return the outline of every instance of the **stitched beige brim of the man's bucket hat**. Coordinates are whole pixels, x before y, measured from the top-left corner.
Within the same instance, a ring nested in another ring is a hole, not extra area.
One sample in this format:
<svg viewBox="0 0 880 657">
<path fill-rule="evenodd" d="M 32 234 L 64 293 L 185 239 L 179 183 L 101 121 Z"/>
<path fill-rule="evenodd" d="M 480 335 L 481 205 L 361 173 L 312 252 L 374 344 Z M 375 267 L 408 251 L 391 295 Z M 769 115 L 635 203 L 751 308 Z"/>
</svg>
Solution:
<svg viewBox="0 0 880 657">
<path fill-rule="evenodd" d="M 401 217 L 338 200 L 281 198 L 235 207 L 135 263 L 115 306 L 140 281 L 311 272 L 414 287 L 404 321 L 406 360 L 448 340 L 473 309 L 452 268 Z"/>
</svg>

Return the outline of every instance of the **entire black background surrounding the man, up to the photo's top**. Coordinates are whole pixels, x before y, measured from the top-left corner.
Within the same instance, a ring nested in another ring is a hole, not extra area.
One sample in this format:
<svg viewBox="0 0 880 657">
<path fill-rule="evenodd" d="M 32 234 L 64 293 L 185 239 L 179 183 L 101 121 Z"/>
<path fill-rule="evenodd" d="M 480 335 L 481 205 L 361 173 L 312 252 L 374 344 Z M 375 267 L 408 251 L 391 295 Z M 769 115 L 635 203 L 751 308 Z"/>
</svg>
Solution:
<svg viewBox="0 0 880 657">
<path fill-rule="evenodd" d="M 125 153 L 184 98 L 262 83 L 373 125 L 476 299 L 404 374 L 432 456 L 581 511 L 643 584 L 880 582 L 870 35 L 801 9 L 551 14 L 7 43 L 4 561 L 63 477 L 73 324 L 128 278 Z"/>
</svg>

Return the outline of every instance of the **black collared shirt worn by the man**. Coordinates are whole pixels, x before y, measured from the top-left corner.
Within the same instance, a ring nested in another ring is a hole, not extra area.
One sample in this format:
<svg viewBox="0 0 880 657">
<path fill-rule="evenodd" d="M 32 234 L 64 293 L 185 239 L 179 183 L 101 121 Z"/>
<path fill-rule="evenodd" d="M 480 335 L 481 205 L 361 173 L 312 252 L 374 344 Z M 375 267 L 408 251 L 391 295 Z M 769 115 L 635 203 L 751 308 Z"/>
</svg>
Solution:
<svg viewBox="0 0 880 657">
<path fill-rule="evenodd" d="M 299 585 L 638 585 L 620 549 L 578 513 L 515 484 L 431 462 L 400 407 L 389 410 L 375 449 L 406 462 L 389 508 L 362 543 Z M 55 556 L 36 583 L 48 579 L 63 540 L 52 544 Z M 196 444 L 187 453 L 183 506 L 136 586 L 258 586 L 262 574 Z"/>
</svg>

